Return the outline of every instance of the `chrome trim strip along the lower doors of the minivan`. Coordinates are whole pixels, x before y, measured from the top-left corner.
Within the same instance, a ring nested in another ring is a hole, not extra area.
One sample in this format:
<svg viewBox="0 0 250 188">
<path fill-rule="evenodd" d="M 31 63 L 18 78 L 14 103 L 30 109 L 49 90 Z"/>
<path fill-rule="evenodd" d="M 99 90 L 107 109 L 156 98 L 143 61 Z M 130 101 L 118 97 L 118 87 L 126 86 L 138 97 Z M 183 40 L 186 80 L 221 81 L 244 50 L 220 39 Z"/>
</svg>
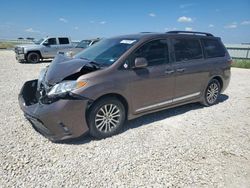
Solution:
<svg viewBox="0 0 250 188">
<path fill-rule="evenodd" d="M 142 108 L 137 109 L 135 112 L 150 110 L 150 109 L 153 109 L 153 108 L 165 106 L 165 105 L 173 103 L 173 102 L 177 102 L 177 101 L 181 101 L 181 100 L 184 100 L 184 99 L 196 97 L 196 96 L 200 95 L 200 93 L 201 92 L 196 92 L 196 93 L 192 93 L 192 94 L 189 94 L 189 95 L 185 95 L 185 96 L 182 96 L 182 97 L 175 98 L 173 100 L 167 100 L 167 101 L 156 103 L 156 104 L 153 104 L 153 105 L 150 105 L 150 106 L 142 107 Z"/>
</svg>

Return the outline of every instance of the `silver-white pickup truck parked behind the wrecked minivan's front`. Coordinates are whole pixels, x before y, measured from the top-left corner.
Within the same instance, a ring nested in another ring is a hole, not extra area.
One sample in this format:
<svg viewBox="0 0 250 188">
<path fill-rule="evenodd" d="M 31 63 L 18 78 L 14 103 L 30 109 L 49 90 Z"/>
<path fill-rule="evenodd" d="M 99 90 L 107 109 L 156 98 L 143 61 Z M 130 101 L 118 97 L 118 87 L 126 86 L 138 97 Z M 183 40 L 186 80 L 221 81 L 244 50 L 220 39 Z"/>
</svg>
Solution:
<svg viewBox="0 0 250 188">
<path fill-rule="evenodd" d="M 54 58 L 58 51 L 73 48 L 69 37 L 46 37 L 34 44 L 15 47 L 18 62 L 38 63 L 40 60 Z"/>
</svg>

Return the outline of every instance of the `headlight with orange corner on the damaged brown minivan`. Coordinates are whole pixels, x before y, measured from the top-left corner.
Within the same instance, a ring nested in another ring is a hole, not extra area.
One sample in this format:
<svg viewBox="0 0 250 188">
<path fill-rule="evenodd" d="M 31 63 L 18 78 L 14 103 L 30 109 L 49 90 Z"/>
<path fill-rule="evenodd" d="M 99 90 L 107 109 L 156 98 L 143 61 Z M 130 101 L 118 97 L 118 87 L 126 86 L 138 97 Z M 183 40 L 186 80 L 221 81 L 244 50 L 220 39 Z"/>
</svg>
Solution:
<svg viewBox="0 0 250 188">
<path fill-rule="evenodd" d="M 65 81 L 61 82 L 59 84 L 56 84 L 50 92 L 48 93 L 49 97 L 58 96 L 58 95 L 64 95 L 70 91 L 73 91 L 75 89 L 82 88 L 86 86 L 87 82 L 85 81 Z"/>
</svg>

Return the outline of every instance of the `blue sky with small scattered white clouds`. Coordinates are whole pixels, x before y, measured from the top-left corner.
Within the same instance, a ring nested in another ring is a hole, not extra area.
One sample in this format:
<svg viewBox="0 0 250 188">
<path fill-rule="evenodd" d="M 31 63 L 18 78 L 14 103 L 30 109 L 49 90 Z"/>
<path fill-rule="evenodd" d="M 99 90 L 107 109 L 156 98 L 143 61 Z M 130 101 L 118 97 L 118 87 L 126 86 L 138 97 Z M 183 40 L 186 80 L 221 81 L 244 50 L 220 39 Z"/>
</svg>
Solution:
<svg viewBox="0 0 250 188">
<path fill-rule="evenodd" d="M 204 31 L 250 43 L 250 0 L 3 0 L 0 39 Z"/>
</svg>

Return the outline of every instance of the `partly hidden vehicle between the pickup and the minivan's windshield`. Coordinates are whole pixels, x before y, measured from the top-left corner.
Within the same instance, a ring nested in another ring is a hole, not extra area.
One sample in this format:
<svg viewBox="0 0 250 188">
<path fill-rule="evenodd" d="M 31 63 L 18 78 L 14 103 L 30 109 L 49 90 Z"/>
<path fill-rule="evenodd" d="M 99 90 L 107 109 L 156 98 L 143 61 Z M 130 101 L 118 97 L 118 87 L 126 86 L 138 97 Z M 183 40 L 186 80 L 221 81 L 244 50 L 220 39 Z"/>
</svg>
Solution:
<svg viewBox="0 0 250 188">
<path fill-rule="evenodd" d="M 73 57 L 77 53 L 79 53 L 82 50 L 88 48 L 89 46 L 92 46 L 93 44 L 97 43 L 100 40 L 101 40 L 100 38 L 82 40 L 74 48 L 66 49 L 66 50 L 60 50 L 59 53 L 64 54 L 64 55 L 66 55 L 68 57 Z"/>
</svg>

